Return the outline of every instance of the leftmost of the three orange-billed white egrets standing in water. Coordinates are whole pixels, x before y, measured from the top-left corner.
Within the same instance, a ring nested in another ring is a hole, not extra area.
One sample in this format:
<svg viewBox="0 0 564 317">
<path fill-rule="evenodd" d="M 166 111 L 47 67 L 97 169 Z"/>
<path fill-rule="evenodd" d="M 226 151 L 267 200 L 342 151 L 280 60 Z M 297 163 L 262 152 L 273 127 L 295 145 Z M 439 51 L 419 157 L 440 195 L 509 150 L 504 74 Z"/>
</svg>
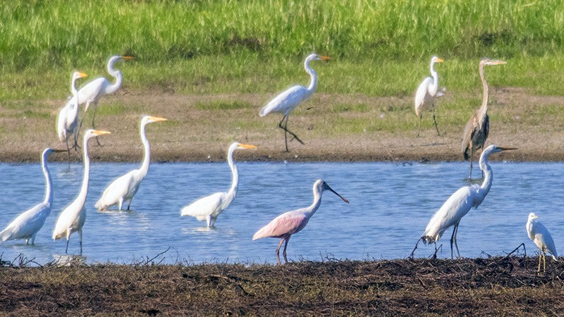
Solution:
<svg viewBox="0 0 564 317">
<path fill-rule="evenodd" d="M 59 240 L 66 237 L 66 249 L 68 252 L 68 240 L 71 239 L 71 234 L 78 231 L 80 239 L 80 254 L 82 254 L 82 226 L 86 221 L 86 210 L 84 204 L 88 194 L 88 179 L 90 177 L 90 158 L 88 157 L 88 140 L 98 135 L 109 135 L 110 132 L 99 130 L 87 130 L 84 135 L 84 142 L 82 150 L 84 151 L 84 178 L 82 178 L 82 187 L 80 193 L 66 209 L 61 212 L 59 219 L 57 219 L 55 230 L 53 232 L 53 240 Z"/>
</svg>

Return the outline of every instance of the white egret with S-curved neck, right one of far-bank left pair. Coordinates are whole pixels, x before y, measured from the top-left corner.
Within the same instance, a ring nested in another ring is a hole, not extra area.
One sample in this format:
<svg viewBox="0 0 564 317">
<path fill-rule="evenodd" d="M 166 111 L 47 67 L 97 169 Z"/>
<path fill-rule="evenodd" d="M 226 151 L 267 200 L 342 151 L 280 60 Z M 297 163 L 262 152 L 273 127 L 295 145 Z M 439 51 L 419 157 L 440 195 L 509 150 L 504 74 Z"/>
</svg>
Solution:
<svg viewBox="0 0 564 317">
<path fill-rule="evenodd" d="M 114 84 L 104 77 L 98 77 L 80 88 L 78 91 L 78 103 L 85 104 L 85 108 L 84 115 L 82 116 L 82 119 L 80 119 L 80 125 L 78 126 L 79 130 L 82 127 L 82 121 L 84 120 L 86 112 L 88 111 L 88 108 L 90 108 L 91 104 L 94 104 L 94 113 L 92 114 L 92 129 L 94 129 L 94 119 L 96 118 L 98 101 L 100 98 L 106 96 L 106 94 L 114 94 L 114 92 L 117 92 L 123 82 L 123 75 L 121 75 L 121 71 L 114 68 L 114 64 L 120 61 L 128 61 L 130 59 L 133 59 L 133 57 L 115 55 L 109 58 L 107 70 L 110 75 L 116 78 L 116 82 L 114 82 Z"/>
</svg>

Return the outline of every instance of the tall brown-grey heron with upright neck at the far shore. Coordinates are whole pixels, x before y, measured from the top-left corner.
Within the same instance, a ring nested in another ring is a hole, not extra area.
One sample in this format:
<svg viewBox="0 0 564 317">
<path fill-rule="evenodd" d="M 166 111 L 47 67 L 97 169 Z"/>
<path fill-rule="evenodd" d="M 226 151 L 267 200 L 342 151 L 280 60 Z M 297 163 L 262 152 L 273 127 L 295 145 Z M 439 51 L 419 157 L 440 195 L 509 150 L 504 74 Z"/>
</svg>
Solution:
<svg viewBox="0 0 564 317">
<path fill-rule="evenodd" d="M 484 77 L 484 67 L 492 65 L 506 64 L 505 61 L 497 61 L 495 59 L 484 57 L 479 64 L 480 78 L 482 79 L 482 87 L 484 95 L 482 96 L 482 106 L 474 113 L 474 115 L 466 123 L 464 135 L 462 135 L 462 154 L 464 159 L 470 159 L 470 175 L 472 178 L 472 159 L 474 152 L 484 147 L 489 134 L 489 116 L 488 116 L 488 83 Z"/>
</svg>

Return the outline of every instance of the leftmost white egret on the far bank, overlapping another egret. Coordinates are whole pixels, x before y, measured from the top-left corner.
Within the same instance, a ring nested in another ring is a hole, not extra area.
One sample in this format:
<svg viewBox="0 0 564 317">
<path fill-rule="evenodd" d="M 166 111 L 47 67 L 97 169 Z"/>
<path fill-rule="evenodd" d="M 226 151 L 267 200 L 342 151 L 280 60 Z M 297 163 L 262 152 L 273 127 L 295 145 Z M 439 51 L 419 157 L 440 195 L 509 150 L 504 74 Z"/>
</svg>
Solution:
<svg viewBox="0 0 564 317">
<path fill-rule="evenodd" d="M 68 99 L 66 105 L 59 112 L 59 118 L 57 119 L 57 134 L 59 135 L 59 141 L 66 142 L 66 151 L 68 166 L 71 167 L 71 149 L 68 147 L 68 138 L 71 135 L 74 136 L 73 149 L 77 149 L 77 135 L 76 135 L 76 125 L 78 123 L 78 94 L 76 90 L 76 80 L 78 78 L 86 77 L 87 75 L 82 72 L 74 72 L 71 77 L 71 92 L 73 97 Z"/>
</svg>

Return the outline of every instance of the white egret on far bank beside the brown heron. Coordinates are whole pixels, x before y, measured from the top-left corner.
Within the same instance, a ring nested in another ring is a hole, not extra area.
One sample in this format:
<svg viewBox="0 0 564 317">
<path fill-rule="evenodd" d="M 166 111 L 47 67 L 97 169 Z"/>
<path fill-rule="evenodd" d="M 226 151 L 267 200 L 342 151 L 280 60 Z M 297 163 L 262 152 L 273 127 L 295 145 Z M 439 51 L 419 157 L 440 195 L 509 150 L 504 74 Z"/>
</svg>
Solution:
<svg viewBox="0 0 564 317">
<path fill-rule="evenodd" d="M 415 114 L 419 117 L 419 128 L 417 128 L 417 137 L 419 137 L 419 131 L 421 130 L 421 120 L 423 118 L 423 111 L 429 108 L 433 109 L 433 122 L 435 123 L 436 135 L 439 134 L 439 127 L 436 125 L 435 118 L 435 97 L 440 97 L 443 95 L 439 92 L 439 75 L 435 71 L 435 63 L 442 63 L 443 60 L 439 57 L 433 56 L 431 58 L 431 77 L 425 78 L 415 93 Z"/>
</svg>

